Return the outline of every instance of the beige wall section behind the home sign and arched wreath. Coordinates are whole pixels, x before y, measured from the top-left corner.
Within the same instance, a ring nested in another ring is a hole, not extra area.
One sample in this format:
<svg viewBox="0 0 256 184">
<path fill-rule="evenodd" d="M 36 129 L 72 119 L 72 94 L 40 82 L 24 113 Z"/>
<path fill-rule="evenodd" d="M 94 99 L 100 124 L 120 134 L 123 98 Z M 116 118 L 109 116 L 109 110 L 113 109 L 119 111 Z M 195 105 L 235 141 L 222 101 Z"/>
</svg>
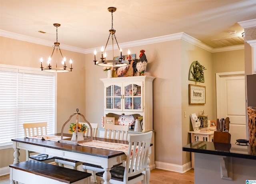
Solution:
<svg viewBox="0 0 256 184">
<path fill-rule="evenodd" d="M 192 124 L 190 123 L 190 114 L 199 113 L 204 110 L 208 115 L 208 120 L 212 120 L 212 53 L 190 44 L 186 41 L 182 41 L 182 145 L 190 143 L 190 134 L 188 131 L 193 130 Z M 188 80 L 188 72 L 192 62 L 198 61 L 203 65 L 206 70 L 204 70 L 204 81 L 205 82 L 194 82 Z M 188 84 L 196 84 L 206 87 L 206 104 L 204 105 L 189 105 L 188 104 Z M 184 117 L 184 112 L 186 112 L 186 118 Z M 190 161 L 190 152 L 182 152 L 182 163 L 186 164 Z"/>
</svg>

